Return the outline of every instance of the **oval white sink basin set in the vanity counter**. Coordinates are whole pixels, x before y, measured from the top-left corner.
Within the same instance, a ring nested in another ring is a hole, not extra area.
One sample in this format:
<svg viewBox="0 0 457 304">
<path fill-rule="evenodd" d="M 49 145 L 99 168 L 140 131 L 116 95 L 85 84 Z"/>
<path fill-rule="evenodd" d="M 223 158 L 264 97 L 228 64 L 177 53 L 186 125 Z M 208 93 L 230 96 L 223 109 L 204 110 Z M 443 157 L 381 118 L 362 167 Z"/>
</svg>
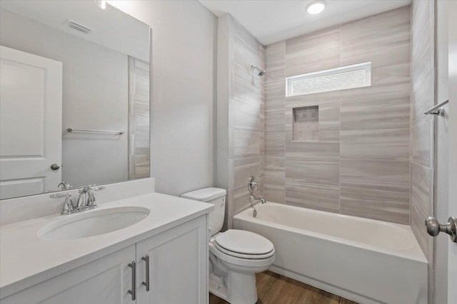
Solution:
<svg viewBox="0 0 457 304">
<path fill-rule="evenodd" d="M 143 207 L 119 207 L 80 214 L 62 216 L 63 219 L 38 231 L 40 239 L 62 241 L 99 236 L 129 227 L 146 219 L 149 209 Z"/>
</svg>

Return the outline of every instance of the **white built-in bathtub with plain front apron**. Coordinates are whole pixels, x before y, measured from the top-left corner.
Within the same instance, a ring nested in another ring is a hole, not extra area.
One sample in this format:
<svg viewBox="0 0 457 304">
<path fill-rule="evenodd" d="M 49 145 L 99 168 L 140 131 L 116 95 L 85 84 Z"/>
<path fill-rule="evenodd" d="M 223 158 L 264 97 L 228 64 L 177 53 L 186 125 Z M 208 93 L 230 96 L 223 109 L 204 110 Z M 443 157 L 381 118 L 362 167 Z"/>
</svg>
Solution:
<svg viewBox="0 0 457 304">
<path fill-rule="evenodd" d="M 273 242 L 275 273 L 358 303 L 427 303 L 428 263 L 409 226 L 268 202 L 233 228 Z"/>
</svg>

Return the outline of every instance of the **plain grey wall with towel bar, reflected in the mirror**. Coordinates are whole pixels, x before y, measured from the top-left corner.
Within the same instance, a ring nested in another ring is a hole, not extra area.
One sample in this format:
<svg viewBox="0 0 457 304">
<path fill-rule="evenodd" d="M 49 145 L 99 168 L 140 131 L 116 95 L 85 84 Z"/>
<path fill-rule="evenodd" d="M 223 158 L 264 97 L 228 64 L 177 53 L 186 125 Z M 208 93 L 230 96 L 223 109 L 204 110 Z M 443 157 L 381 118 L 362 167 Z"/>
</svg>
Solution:
<svg viewBox="0 0 457 304">
<path fill-rule="evenodd" d="M 2 45 L 63 63 L 62 180 L 81 187 L 129 179 L 127 133 L 66 132 L 128 131 L 128 56 L 5 9 L 1 28 Z"/>
</svg>

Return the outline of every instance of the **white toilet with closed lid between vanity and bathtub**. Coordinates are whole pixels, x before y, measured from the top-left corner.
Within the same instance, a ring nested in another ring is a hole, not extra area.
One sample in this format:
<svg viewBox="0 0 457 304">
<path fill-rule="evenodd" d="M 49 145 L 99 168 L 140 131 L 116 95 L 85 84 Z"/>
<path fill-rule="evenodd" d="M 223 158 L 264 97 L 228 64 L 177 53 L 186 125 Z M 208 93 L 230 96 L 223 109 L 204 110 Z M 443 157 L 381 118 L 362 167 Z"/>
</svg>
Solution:
<svg viewBox="0 0 457 304">
<path fill-rule="evenodd" d="M 214 211 L 209 213 L 209 292 L 231 304 L 254 304 L 257 302 L 256 273 L 271 266 L 274 246 L 251 231 L 221 232 L 226 193 L 225 189 L 210 187 L 181 197 L 214 204 Z"/>
</svg>

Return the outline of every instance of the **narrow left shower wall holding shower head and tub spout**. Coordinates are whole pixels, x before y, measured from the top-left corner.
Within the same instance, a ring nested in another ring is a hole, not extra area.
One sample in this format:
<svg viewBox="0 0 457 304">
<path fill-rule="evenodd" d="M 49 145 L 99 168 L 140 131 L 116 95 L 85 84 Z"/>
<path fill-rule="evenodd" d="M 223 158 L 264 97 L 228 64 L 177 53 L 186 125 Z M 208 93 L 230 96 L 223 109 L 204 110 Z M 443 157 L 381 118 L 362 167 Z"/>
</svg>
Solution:
<svg viewBox="0 0 457 304">
<path fill-rule="evenodd" d="M 228 189 L 225 224 L 230 229 L 233 215 L 251 206 L 247 187 L 251 175 L 259 183 L 256 195 L 263 193 L 265 78 L 258 77 L 258 72 L 252 71 L 251 65 L 264 68 L 265 56 L 263 46 L 230 15 L 219 18 L 218 39 L 223 40 L 218 43 L 227 44 L 224 51 L 228 51 L 218 53 L 221 56 L 218 69 L 227 70 L 228 77 L 226 81 L 224 77 L 218 79 L 218 128 L 222 130 L 218 130 L 219 172 L 216 184 Z M 220 94 L 220 85 L 228 88 L 226 94 Z M 225 117 L 228 124 L 224 122 Z M 221 133 L 226 134 L 219 136 Z M 221 151 L 227 147 L 228 154 L 224 155 Z"/>
</svg>

